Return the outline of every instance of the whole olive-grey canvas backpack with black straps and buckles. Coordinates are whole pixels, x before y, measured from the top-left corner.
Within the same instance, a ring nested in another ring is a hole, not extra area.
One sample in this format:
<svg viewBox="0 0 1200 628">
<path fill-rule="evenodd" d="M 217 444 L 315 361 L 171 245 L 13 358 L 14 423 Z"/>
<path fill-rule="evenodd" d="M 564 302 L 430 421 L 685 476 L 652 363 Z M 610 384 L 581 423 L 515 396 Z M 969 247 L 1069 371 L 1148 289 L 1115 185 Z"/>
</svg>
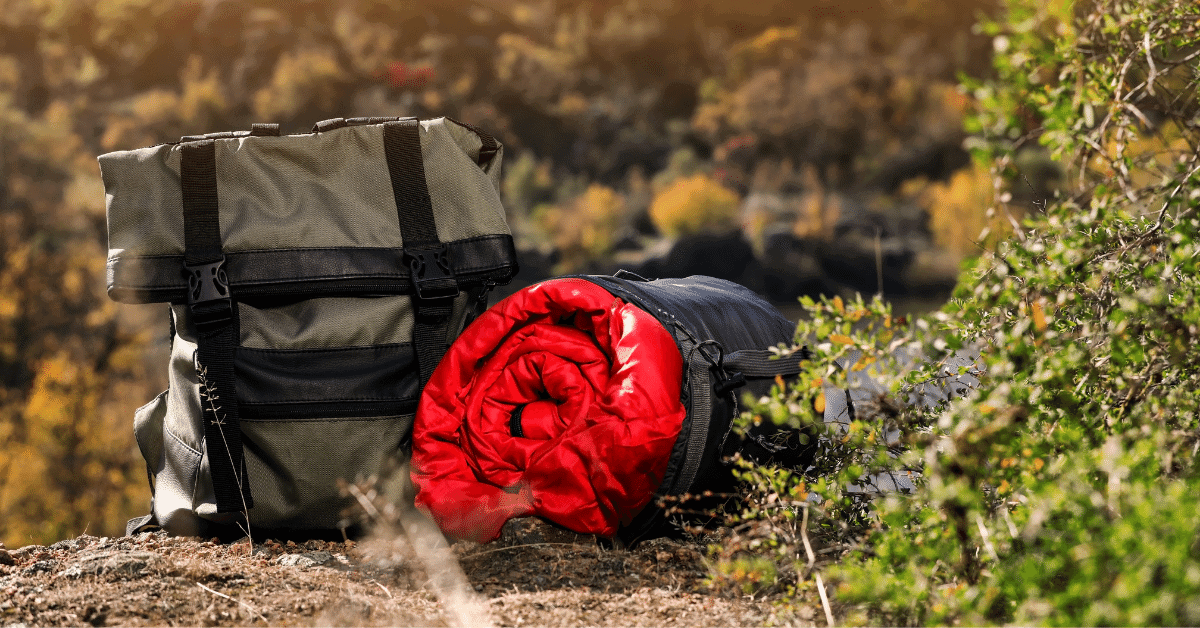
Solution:
<svg viewBox="0 0 1200 628">
<path fill-rule="evenodd" d="M 407 449 L 433 367 L 517 270 L 502 155 L 450 119 L 372 118 L 100 157 L 108 293 L 170 304 L 131 533 L 346 527 L 338 482 Z"/>
</svg>

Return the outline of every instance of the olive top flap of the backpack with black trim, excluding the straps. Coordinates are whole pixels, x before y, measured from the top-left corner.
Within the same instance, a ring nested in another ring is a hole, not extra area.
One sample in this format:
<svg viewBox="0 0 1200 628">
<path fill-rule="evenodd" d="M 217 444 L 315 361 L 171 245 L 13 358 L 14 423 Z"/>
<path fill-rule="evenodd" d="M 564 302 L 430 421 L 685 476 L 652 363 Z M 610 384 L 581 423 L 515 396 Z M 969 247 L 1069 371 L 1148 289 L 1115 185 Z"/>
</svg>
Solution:
<svg viewBox="0 0 1200 628">
<path fill-rule="evenodd" d="M 383 124 L 293 136 L 209 138 L 230 286 L 240 294 L 322 289 L 408 293 L 406 235 Z M 516 252 L 499 198 L 503 146 L 445 118 L 415 125 L 438 239 L 462 279 L 506 281 Z M 216 134 L 222 136 L 222 134 Z M 203 139 L 203 138 L 202 138 Z M 181 154 L 187 143 L 100 157 L 108 208 L 108 292 L 121 303 L 185 300 Z M 487 161 L 480 165 L 480 155 Z M 248 292 L 247 292 L 248 291 Z"/>
</svg>

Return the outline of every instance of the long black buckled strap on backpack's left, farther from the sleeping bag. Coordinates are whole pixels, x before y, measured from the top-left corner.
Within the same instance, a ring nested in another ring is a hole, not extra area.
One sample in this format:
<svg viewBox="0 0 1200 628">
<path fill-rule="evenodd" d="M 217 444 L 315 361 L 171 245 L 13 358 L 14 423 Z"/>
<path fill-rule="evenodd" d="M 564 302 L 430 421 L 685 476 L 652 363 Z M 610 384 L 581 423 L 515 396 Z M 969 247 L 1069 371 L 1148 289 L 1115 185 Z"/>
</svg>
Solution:
<svg viewBox="0 0 1200 628">
<path fill-rule="evenodd" d="M 221 251 L 216 145 L 211 139 L 180 145 L 184 201 L 184 268 L 187 305 L 196 328 L 196 370 L 204 412 L 204 449 L 212 473 L 218 513 L 254 506 L 238 423 L 233 357 L 238 325 Z M 240 490 L 239 490 L 240 488 Z"/>
</svg>

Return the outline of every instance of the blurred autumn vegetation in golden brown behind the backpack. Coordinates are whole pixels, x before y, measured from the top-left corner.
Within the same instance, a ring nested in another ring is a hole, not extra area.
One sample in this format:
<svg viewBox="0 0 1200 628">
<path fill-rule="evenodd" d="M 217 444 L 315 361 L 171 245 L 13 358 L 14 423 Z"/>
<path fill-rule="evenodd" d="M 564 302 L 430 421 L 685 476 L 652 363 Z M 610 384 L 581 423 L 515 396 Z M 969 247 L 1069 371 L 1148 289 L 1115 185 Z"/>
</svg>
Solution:
<svg viewBox="0 0 1200 628">
<path fill-rule="evenodd" d="M 520 281 L 625 267 L 932 307 L 996 195 L 959 86 L 992 72 L 995 5 L 0 0 L 0 540 L 120 534 L 148 506 L 131 417 L 164 385 L 166 311 L 104 294 L 98 154 L 451 115 L 506 145 Z M 1013 208 L 1057 177 L 1018 159 Z"/>
</svg>

